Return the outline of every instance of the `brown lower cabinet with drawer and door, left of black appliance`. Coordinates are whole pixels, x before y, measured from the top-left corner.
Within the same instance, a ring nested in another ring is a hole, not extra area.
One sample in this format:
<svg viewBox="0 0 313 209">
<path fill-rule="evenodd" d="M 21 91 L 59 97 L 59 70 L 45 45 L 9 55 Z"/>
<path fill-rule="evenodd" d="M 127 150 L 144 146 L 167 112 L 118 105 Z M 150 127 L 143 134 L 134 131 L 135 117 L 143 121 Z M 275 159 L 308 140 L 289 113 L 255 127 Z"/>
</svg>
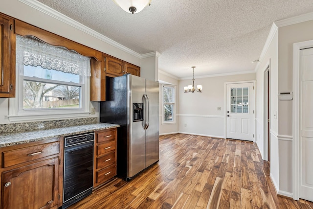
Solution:
<svg viewBox="0 0 313 209">
<path fill-rule="evenodd" d="M 60 139 L 0 148 L 1 209 L 62 206 L 61 149 Z"/>
</svg>

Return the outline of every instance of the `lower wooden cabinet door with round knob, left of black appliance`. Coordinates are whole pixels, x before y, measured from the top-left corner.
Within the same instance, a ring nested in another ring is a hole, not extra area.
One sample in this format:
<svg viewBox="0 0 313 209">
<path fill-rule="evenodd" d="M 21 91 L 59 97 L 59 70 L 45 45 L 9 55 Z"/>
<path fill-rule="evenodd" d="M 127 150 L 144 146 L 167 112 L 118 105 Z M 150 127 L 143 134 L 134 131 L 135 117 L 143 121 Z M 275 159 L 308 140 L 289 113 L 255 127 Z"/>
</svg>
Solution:
<svg viewBox="0 0 313 209">
<path fill-rule="evenodd" d="M 59 201 L 58 180 L 58 157 L 2 172 L 2 208 L 52 208 Z"/>
</svg>

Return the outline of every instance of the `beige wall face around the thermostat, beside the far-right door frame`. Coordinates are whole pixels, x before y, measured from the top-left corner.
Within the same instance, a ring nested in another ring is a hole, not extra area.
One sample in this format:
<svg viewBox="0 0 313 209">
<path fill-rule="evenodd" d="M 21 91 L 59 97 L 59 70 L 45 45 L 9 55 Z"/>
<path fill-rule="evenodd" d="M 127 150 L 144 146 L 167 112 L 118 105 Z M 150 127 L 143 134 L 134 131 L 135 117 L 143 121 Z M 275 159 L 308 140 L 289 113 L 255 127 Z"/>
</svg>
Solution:
<svg viewBox="0 0 313 209">
<path fill-rule="evenodd" d="M 292 91 L 293 44 L 313 40 L 313 21 L 280 27 L 278 30 L 278 91 Z M 292 100 L 278 101 L 278 138 L 292 136 Z M 292 140 L 279 140 L 280 189 L 292 192 Z"/>
</svg>

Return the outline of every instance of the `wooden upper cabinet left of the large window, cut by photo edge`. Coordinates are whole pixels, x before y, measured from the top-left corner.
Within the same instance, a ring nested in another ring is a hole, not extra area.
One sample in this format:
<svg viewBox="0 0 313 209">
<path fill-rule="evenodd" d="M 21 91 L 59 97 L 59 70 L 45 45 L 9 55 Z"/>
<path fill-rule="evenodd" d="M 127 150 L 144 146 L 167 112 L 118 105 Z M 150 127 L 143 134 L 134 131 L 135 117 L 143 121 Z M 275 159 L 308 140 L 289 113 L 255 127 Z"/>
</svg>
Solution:
<svg viewBox="0 0 313 209">
<path fill-rule="evenodd" d="M 15 97 L 15 35 L 13 19 L 0 14 L 0 97 Z"/>
</svg>

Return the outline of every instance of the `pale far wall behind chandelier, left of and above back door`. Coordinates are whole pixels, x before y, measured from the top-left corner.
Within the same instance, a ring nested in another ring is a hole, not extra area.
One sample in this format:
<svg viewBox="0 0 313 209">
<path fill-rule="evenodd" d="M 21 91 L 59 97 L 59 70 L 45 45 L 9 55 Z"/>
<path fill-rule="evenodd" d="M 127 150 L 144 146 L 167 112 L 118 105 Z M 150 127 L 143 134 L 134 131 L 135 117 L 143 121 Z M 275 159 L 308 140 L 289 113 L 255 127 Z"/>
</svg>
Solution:
<svg viewBox="0 0 313 209">
<path fill-rule="evenodd" d="M 224 83 L 255 79 L 256 73 L 196 78 L 195 85 L 202 85 L 202 93 L 184 93 L 183 87 L 192 84 L 192 79 L 179 80 L 179 133 L 224 138 Z"/>
</svg>

